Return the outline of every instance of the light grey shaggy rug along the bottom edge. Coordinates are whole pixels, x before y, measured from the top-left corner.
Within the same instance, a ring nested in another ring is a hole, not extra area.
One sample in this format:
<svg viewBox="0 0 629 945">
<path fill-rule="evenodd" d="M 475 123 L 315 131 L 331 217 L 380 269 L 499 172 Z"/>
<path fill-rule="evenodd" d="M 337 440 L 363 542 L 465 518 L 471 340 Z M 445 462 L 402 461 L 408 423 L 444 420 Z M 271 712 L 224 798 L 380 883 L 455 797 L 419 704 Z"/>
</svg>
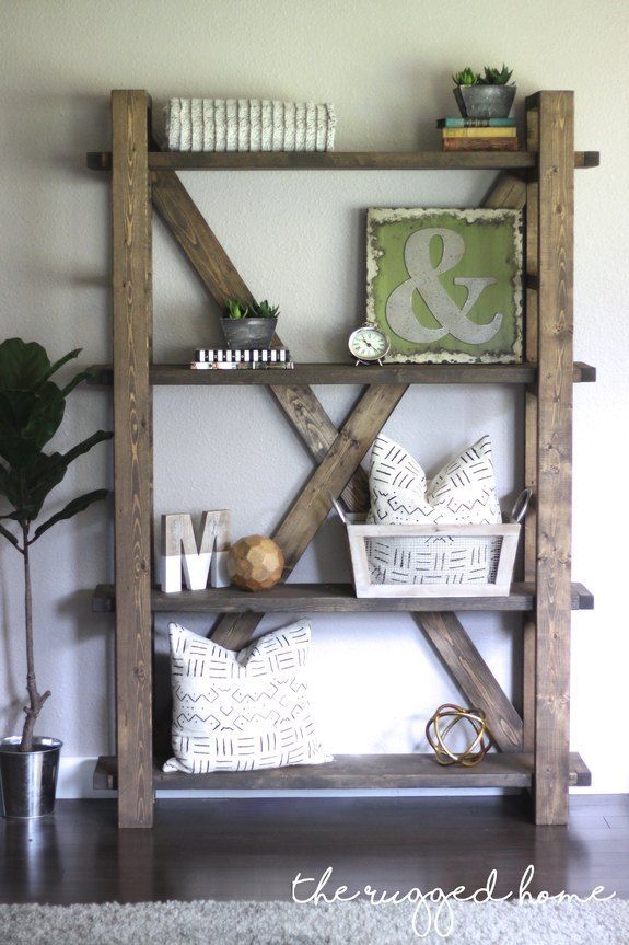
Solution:
<svg viewBox="0 0 629 945">
<path fill-rule="evenodd" d="M 2 945 L 629 945 L 629 901 L 454 903 L 148 902 L 139 906 L 0 906 Z M 426 932 L 429 917 L 417 915 Z M 452 919 L 453 929 L 447 934 Z M 440 932 L 434 931 L 435 922 Z"/>
</svg>

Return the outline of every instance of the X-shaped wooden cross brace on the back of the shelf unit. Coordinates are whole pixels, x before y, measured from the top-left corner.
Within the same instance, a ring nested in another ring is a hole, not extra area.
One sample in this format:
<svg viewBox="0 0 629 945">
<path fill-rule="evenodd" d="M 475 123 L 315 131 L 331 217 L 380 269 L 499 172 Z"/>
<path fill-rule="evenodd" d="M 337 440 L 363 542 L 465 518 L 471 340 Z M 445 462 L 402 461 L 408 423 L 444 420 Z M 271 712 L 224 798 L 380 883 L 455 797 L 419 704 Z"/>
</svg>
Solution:
<svg viewBox="0 0 629 945">
<path fill-rule="evenodd" d="M 221 307 L 228 298 L 252 301 L 252 292 L 177 175 L 173 171 L 152 172 L 151 192 L 155 209 L 212 298 Z M 524 182 L 510 174 L 499 181 L 486 206 L 521 209 L 525 199 Z M 277 336 L 275 342 L 280 344 Z M 407 385 L 369 385 L 340 431 L 310 387 L 278 385 L 269 390 L 318 463 L 273 533 L 284 552 L 288 577 L 325 521 L 330 509 L 329 494 L 341 495 L 350 511 L 368 507 L 368 483 L 360 463 Z M 522 719 L 456 614 L 422 612 L 412 616 L 469 703 L 485 710 L 497 747 L 502 751 L 522 750 Z M 261 614 L 252 612 L 225 614 L 214 627 L 212 639 L 240 649 L 260 620 Z"/>
</svg>

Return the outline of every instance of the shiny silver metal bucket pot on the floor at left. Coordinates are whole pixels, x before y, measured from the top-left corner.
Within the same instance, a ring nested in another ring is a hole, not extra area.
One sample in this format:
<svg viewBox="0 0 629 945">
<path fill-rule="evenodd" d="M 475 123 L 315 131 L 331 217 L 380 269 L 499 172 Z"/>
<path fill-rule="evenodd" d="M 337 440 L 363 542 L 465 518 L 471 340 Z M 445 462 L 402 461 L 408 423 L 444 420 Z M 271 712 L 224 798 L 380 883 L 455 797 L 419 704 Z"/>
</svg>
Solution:
<svg viewBox="0 0 629 945">
<path fill-rule="evenodd" d="M 4 817 L 45 817 L 55 809 L 62 741 L 33 739 L 33 751 L 20 751 L 21 737 L 0 739 L 0 811 Z"/>
</svg>

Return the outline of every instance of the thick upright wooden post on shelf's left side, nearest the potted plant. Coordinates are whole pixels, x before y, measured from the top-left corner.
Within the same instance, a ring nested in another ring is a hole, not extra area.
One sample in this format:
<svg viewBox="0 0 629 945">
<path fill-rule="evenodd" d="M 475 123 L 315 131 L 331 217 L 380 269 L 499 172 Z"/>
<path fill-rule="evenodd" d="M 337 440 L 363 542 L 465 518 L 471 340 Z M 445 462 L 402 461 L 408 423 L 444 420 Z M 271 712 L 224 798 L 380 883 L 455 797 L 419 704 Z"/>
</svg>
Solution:
<svg viewBox="0 0 629 945">
<path fill-rule="evenodd" d="M 112 92 L 118 822 L 150 827 L 152 336 L 149 96 Z"/>
</svg>

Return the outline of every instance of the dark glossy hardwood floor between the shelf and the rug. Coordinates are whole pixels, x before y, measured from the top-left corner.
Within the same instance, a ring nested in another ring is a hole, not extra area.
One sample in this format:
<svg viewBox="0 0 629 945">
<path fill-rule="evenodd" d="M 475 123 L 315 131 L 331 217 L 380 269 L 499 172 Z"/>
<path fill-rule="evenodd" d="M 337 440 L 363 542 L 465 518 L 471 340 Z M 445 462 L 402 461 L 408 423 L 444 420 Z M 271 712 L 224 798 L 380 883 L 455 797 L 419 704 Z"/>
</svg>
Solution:
<svg viewBox="0 0 629 945">
<path fill-rule="evenodd" d="M 389 892 L 413 886 L 629 898 L 629 795 L 572 798 L 570 826 L 531 823 L 521 797 L 161 800 L 153 830 L 118 831 L 110 800 L 0 822 L 0 902 L 290 899 L 301 872 Z M 302 887 L 305 888 L 305 887 Z M 330 887 L 328 887 L 330 888 Z"/>
</svg>

